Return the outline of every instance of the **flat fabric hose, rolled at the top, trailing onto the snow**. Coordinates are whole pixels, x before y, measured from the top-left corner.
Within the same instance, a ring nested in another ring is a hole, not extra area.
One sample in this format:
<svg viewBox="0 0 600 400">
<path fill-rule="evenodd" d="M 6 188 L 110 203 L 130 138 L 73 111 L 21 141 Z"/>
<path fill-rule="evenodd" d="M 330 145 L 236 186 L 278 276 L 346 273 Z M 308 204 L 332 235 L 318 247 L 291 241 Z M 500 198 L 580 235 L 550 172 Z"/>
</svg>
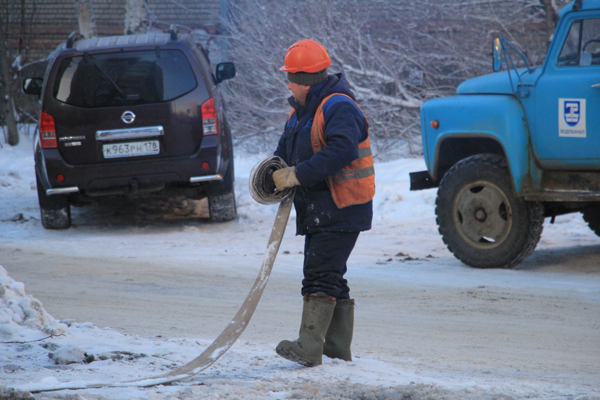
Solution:
<svg viewBox="0 0 600 400">
<path fill-rule="evenodd" d="M 50 390 L 88 389 L 93 387 L 148 387 L 190 378 L 211 366 L 219 357 L 229 350 L 233 343 L 239 338 L 239 335 L 241 335 L 248 326 L 250 318 L 254 314 L 260 296 L 262 296 L 263 290 L 265 290 L 266 283 L 271 275 L 271 269 L 273 268 L 275 257 L 277 257 L 281 239 L 283 239 L 283 234 L 286 231 L 287 220 L 290 216 L 290 210 L 292 210 L 292 202 L 296 191 L 295 188 L 275 191 L 275 182 L 273 181 L 272 175 L 275 171 L 286 167 L 287 164 L 281 160 L 280 157 L 269 157 L 256 164 L 250 173 L 250 194 L 253 199 L 260 204 L 280 203 L 279 209 L 271 229 L 271 237 L 269 237 L 269 242 L 266 246 L 265 257 L 263 258 L 259 275 L 256 277 L 256 281 L 254 281 L 250 293 L 248 293 L 248 296 L 239 308 L 238 313 L 233 317 L 233 320 L 227 324 L 227 327 L 221 332 L 221 335 L 219 335 L 218 338 L 215 339 L 202 354 L 200 354 L 200 356 L 168 374 L 154 378 L 116 383 L 102 381 L 71 381 L 59 384 L 28 383 L 14 386 L 14 389 L 26 390 L 28 392 L 47 392 Z"/>
</svg>

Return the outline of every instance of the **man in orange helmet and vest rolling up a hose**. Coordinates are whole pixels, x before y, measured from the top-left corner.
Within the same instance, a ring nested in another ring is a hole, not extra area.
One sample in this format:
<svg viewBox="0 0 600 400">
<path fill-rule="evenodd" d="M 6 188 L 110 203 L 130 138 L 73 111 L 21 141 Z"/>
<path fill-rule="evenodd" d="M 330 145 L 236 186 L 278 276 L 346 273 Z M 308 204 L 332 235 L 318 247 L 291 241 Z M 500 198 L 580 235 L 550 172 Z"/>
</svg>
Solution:
<svg viewBox="0 0 600 400">
<path fill-rule="evenodd" d="M 296 187 L 296 234 L 305 236 L 299 338 L 277 353 L 304 366 L 322 354 L 351 361 L 355 302 L 344 274 L 361 231 L 371 228 L 375 172 L 368 124 L 343 74 L 314 40 L 293 44 L 287 72 L 292 110 L 274 155 L 289 165 L 273 173 L 277 190 Z"/>
</svg>

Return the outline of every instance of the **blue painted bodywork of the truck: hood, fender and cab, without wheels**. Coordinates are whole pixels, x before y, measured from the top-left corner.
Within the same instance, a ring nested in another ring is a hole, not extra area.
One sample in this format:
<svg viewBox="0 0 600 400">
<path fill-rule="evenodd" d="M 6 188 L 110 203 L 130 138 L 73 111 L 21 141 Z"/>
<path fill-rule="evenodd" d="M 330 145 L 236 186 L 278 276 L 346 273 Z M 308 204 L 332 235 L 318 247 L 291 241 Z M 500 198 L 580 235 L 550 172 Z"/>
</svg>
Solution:
<svg viewBox="0 0 600 400">
<path fill-rule="evenodd" d="M 560 11 L 541 67 L 511 70 L 510 77 L 500 71 L 469 79 L 458 86 L 457 95 L 423 104 L 423 149 L 434 181 L 442 178 L 437 176 L 437 162 L 440 146 L 449 137 L 496 140 L 508 159 L 517 194 L 542 190 L 544 170 L 600 170 L 600 64 L 589 55 L 596 60 L 596 50 L 590 50 L 594 40 L 587 49 L 579 44 L 578 65 L 559 59 L 578 21 L 590 19 L 584 26 L 592 26 L 600 38 L 600 0 L 583 0 L 580 10 L 572 7 L 573 2 Z M 592 53 L 584 54 L 587 50 Z M 588 64 L 581 61 L 586 56 Z M 517 97 L 516 91 L 526 94 Z M 433 120 L 439 121 L 439 128 L 431 127 Z"/>
</svg>

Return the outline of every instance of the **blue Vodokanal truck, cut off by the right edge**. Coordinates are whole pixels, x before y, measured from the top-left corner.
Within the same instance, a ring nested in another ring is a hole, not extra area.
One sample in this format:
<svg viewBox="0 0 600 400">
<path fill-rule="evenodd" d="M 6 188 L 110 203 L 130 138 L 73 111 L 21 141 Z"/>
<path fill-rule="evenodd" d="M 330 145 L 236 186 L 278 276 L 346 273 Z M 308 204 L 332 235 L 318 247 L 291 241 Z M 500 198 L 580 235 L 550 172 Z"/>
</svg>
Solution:
<svg viewBox="0 0 600 400">
<path fill-rule="evenodd" d="M 539 67 L 522 57 L 515 68 L 503 38 L 492 49 L 496 73 L 422 105 L 427 171 L 410 174 L 410 190 L 439 188 L 439 233 L 459 260 L 511 268 L 544 218 L 581 212 L 600 235 L 600 0 L 560 10 Z"/>
</svg>

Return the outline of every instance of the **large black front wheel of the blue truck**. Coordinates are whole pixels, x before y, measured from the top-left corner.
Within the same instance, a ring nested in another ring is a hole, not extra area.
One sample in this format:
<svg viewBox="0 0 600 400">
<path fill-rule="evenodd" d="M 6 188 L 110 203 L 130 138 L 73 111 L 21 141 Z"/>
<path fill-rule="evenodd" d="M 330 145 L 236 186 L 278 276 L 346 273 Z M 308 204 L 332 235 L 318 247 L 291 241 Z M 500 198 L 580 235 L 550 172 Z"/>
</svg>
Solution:
<svg viewBox="0 0 600 400">
<path fill-rule="evenodd" d="M 512 268 L 538 244 L 544 207 L 514 196 L 505 158 L 478 154 L 443 177 L 436 216 L 442 239 L 458 260 L 476 268 Z"/>
</svg>

